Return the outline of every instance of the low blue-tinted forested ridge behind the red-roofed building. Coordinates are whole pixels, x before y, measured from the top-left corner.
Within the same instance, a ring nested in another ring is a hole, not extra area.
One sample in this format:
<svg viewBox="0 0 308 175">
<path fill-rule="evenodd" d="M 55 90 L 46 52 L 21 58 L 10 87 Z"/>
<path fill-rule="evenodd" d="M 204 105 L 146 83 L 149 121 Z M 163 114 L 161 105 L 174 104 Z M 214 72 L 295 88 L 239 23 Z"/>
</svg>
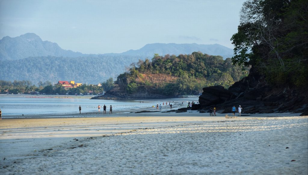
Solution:
<svg viewBox="0 0 308 175">
<path fill-rule="evenodd" d="M 98 84 L 125 71 L 140 57 L 95 56 L 95 57 L 30 57 L 20 60 L 0 60 L 0 80 L 30 80 L 57 83 L 59 80 L 75 80 L 78 83 Z"/>
</svg>

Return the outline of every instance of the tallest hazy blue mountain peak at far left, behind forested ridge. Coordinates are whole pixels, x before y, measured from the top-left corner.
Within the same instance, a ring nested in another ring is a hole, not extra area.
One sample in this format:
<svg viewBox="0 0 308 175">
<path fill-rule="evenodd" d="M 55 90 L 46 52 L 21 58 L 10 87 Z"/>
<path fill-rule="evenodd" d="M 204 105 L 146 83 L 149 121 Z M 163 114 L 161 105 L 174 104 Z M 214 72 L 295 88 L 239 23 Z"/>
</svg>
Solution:
<svg viewBox="0 0 308 175">
<path fill-rule="evenodd" d="M 0 40 L 0 60 L 15 60 L 48 55 L 56 57 L 88 56 L 80 52 L 64 50 L 57 43 L 43 41 L 34 33 L 26 33 L 15 38 L 6 36 Z"/>
</svg>

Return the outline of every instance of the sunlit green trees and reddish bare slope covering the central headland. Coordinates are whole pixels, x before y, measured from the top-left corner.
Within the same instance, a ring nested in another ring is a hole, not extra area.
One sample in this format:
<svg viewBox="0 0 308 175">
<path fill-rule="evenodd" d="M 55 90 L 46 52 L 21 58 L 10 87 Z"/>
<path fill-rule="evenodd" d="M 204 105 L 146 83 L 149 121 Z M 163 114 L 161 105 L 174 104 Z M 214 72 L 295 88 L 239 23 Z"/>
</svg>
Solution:
<svg viewBox="0 0 308 175">
<path fill-rule="evenodd" d="M 164 57 L 155 54 L 152 61 L 145 59 L 132 64 L 117 77 L 116 84 L 129 94 L 148 91 L 168 96 L 193 95 L 200 94 L 207 86 L 229 88 L 247 76 L 248 71 L 248 67 L 234 66 L 230 58 L 223 60 L 221 56 L 200 52 Z"/>
</svg>

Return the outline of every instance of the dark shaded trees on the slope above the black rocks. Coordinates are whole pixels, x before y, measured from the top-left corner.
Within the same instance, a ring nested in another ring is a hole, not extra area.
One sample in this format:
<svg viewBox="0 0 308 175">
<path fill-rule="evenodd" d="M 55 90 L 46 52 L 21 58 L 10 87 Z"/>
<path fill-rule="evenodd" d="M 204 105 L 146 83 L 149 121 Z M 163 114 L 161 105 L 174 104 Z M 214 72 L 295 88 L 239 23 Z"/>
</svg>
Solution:
<svg viewBox="0 0 308 175">
<path fill-rule="evenodd" d="M 241 9 L 233 63 L 253 65 L 278 87 L 308 87 L 308 1 L 248 0 Z"/>
</svg>

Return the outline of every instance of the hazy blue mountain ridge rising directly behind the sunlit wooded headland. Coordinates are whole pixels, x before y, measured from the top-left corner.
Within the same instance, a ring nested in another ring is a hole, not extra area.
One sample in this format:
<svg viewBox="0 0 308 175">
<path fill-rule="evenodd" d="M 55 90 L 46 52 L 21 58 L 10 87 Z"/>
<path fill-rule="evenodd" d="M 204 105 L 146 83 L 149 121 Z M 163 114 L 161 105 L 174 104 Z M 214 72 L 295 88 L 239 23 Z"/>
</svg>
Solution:
<svg viewBox="0 0 308 175">
<path fill-rule="evenodd" d="M 153 43 L 147 44 L 138 50 L 129 50 L 123 53 L 109 53 L 103 55 L 133 55 L 152 58 L 154 54 L 164 56 L 191 54 L 193 52 L 201 51 L 208 55 L 220 55 L 224 59 L 231 58 L 233 56 L 233 49 L 219 45 L 219 44 L 176 44 L 176 43 Z"/>
</svg>

